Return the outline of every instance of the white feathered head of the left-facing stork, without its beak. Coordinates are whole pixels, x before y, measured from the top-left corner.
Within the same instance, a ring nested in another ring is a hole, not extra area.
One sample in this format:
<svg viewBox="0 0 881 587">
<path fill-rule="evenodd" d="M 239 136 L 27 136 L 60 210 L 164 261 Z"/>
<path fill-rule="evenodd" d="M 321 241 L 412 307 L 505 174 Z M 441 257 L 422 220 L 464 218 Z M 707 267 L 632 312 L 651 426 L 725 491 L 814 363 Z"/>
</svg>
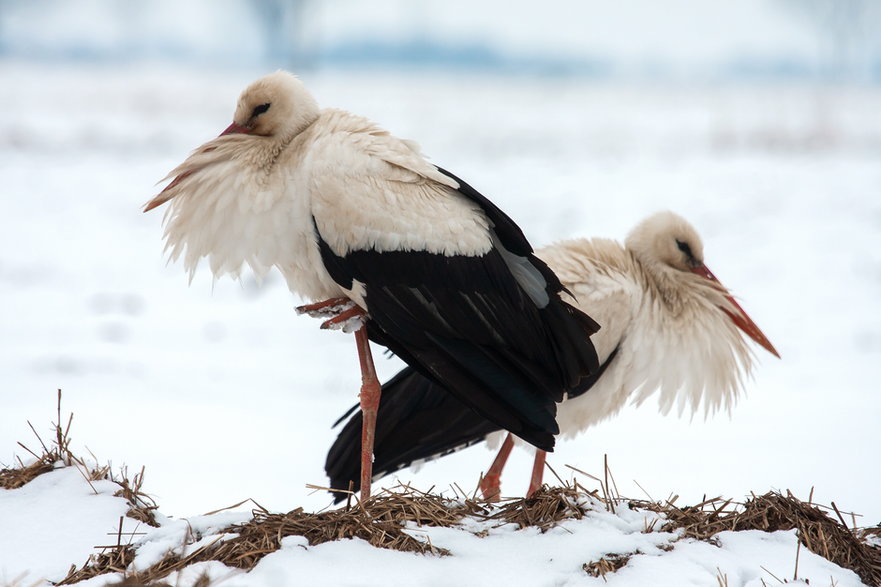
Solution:
<svg viewBox="0 0 881 587">
<path fill-rule="evenodd" d="M 318 118 L 318 104 L 297 77 L 286 71 L 263 76 L 245 88 L 233 122 L 222 134 L 289 138 Z"/>
</svg>

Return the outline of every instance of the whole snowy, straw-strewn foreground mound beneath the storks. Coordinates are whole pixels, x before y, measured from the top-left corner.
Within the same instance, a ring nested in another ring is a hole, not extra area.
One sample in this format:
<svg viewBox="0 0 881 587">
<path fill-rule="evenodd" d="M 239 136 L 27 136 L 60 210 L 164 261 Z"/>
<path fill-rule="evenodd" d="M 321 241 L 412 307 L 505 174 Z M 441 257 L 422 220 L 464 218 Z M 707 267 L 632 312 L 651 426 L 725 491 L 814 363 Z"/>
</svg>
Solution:
<svg viewBox="0 0 881 587">
<path fill-rule="evenodd" d="M 780 494 L 677 508 L 579 485 L 502 504 L 401 487 L 326 512 L 173 519 L 141 491 L 143 474 L 117 477 L 59 451 L 0 472 L 0 581 L 846 587 L 881 577 L 878 528 L 858 533 Z"/>
</svg>

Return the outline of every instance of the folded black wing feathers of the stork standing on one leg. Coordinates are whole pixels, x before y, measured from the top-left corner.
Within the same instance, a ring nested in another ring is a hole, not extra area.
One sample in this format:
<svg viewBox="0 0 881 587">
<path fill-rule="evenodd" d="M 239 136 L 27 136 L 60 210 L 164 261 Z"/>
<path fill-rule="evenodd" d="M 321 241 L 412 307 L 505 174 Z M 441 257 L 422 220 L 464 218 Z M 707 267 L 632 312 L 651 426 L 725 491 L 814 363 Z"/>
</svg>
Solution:
<svg viewBox="0 0 881 587">
<path fill-rule="evenodd" d="M 566 388 L 542 367 L 555 362 L 550 343 L 541 342 L 544 322 L 497 252 L 352 251 L 339 263 L 366 284 L 368 333 L 382 332 L 376 342 L 485 417 L 553 448 L 555 404 Z"/>
</svg>

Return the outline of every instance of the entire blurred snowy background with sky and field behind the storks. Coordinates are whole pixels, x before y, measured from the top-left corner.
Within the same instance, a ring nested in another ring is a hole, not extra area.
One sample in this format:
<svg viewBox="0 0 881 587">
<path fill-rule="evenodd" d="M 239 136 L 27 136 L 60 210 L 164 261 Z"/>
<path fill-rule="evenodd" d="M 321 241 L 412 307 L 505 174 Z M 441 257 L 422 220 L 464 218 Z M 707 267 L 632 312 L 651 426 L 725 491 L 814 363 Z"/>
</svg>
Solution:
<svg viewBox="0 0 881 587">
<path fill-rule="evenodd" d="M 881 520 L 877 0 L 0 0 L 0 464 L 38 446 L 28 420 L 51 437 L 62 388 L 75 450 L 146 466 L 168 515 L 328 505 L 306 484 L 356 400 L 351 337 L 296 317 L 277 275 L 188 287 L 140 212 L 278 68 L 417 140 L 536 246 L 659 209 L 702 234 L 783 359 L 757 351 L 730 415 L 649 401 L 561 442 L 558 474 L 608 455 L 632 497 L 814 488 Z M 491 458 L 397 478 L 470 490 Z M 515 453 L 504 495 L 530 466 Z"/>
</svg>

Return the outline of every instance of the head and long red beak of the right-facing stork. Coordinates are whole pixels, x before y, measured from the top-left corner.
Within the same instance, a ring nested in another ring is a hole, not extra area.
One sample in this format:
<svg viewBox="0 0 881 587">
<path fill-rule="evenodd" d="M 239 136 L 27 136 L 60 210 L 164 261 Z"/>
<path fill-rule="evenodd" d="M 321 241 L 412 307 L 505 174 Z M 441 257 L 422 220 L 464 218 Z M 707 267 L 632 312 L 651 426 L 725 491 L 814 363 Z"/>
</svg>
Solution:
<svg viewBox="0 0 881 587">
<path fill-rule="evenodd" d="M 720 305 L 720 308 L 731 321 L 768 352 L 780 357 L 774 345 L 704 264 L 703 243 L 694 227 L 684 218 L 673 212 L 654 214 L 631 231 L 626 246 L 640 263 L 672 273 L 683 287 L 687 287 L 695 275 L 711 282 L 723 293 L 724 305 Z"/>
</svg>

